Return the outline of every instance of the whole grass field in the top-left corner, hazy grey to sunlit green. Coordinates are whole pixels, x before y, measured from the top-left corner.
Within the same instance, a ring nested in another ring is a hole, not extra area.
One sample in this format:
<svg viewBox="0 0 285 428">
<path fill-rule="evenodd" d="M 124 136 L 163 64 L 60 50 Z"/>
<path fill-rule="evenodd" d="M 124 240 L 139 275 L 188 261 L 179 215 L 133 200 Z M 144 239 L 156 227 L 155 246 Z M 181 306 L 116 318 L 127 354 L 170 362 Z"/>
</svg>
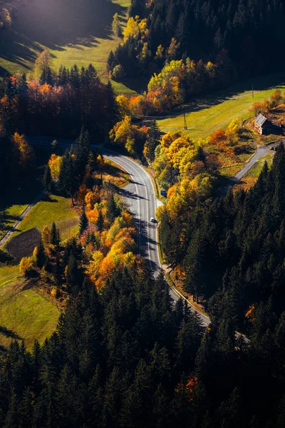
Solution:
<svg viewBox="0 0 285 428">
<path fill-rule="evenodd" d="M 7 71 L 32 71 L 36 56 L 47 48 L 53 55 L 54 68 L 93 63 L 98 75 L 107 81 L 108 54 L 120 43 L 112 35 L 113 15 L 118 12 L 125 24 L 129 6 L 130 0 L 31 0 L 20 9 L 11 29 L 1 31 L 0 76 Z M 113 84 L 120 93 L 135 93 L 123 83 Z"/>
</svg>

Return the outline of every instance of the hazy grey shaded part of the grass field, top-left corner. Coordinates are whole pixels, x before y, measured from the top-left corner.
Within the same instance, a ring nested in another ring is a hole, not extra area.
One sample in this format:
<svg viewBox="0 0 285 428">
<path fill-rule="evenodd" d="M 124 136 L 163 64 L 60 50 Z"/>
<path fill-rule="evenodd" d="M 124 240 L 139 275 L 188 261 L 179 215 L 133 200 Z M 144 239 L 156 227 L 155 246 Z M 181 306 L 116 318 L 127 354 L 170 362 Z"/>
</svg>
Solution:
<svg viewBox="0 0 285 428">
<path fill-rule="evenodd" d="M 37 0 L 19 11 L 11 29 L 0 30 L 0 56 L 27 67 L 43 46 L 56 51 L 71 44 L 93 46 L 95 38 L 110 39 L 113 15 L 126 11 L 106 0 Z"/>
</svg>

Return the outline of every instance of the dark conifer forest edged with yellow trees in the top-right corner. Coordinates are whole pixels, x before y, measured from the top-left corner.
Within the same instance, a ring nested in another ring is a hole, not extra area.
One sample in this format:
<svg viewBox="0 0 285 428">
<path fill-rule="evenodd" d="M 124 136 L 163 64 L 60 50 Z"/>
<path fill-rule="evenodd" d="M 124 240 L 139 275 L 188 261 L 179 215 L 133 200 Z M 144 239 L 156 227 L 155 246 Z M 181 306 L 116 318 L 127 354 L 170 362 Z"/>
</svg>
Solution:
<svg viewBox="0 0 285 428">
<path fill-rule="evenodd" d="M 110 52 L 107 69 L 120 80 L 164 68 L 160 81 L 154 74 L 148 85 L 144 109 L 165 111 L 237 78 L 272 71 L 284 49 L 284 14 L 284 1 L 275 0 L 133 0 L 123 43 Z M 177 85 L 180 97 L 168 99 L 169 87 Z"/>
</svg>

